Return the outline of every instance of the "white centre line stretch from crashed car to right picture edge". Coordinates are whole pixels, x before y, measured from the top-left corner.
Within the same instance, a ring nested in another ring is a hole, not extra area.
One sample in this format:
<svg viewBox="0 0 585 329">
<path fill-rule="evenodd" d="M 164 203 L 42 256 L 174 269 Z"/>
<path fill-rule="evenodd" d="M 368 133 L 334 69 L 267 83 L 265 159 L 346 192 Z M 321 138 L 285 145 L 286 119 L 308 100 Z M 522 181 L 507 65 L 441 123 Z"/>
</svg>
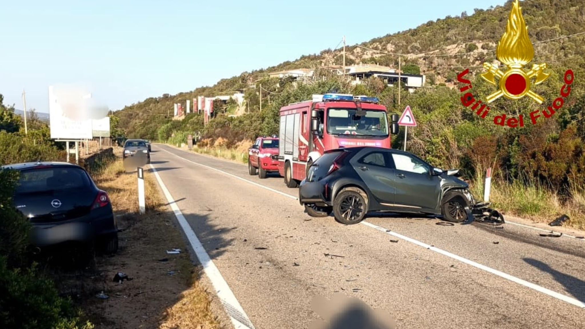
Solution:
<svg viewBox="0 0 585 329">
<path fill-rule="evenodd" d="M 405 237 L 404 235 L 398 234 L 396 232 L 393 232 L 393 231 L 387 232 L 387 229 L 386 228 L 379 227 L 377 225 L 371 224 L 370 222 L 364 221 L 361 224 L 366 225 L 367 227 L 370 227 L 370 228 L 373 228 L 373 229 L 377 229 L 380 232 L 384 232 L 386 234 L 392 235 L 393 237 L 396 237 L 396 238 L 399 238 L 399 239 L 403 239 L 405 241 L 410 242 L 411 244 L 415 244 L 415 245 L 421 246 L 422 248 L 429 249 L 429 250 L 434 251 L 436 253 L 441 253 L 441 255 L 447 256 L 449 258 L 456 259 L 457 261 L 460 261 L 462 263 L 466 263 L 467 265 L 471 265 L 474 268 L 478 268 L 478 269 L 484 270 L 486 272 L 489 272 L 491 274 L 494 274 L 494 275 L 503 277 L 504 279 L 507 279 L 507 280 L 510 280 L 512 282 L 518 283 L 518 285 L 522 285 L 522 286 L 525 286 L 525 287 L 529 287 L 531 289 L 536 290 L 537 292 L 541 292 L 543 294 L 548 294 L 551 297 L 555 297 L 556 299 L 560 299 L 562 301 L 566 301 L 569 304 L 573 304 L 574 306 L 579 306 L 582 309 L 585 309 L 585 303 L 583 303 L 582 301 L 576 300 L 576 299 L 574 299 L 572 297 L 565 296 L 564 294 L 560 294 L 558 292 L 553 292 L 552 290 L 546 289 L 545 287 L 541 287 L 539 285 L 535 285 L 532 282 L 528 282 L 528 281 L 522 280 L 519 277 L 515 277 L 515 276 L 512 276 L 512 275 L 509 275 L 507 273 L 501 272 L 501 271 L 496 270 L 496 269 L 493 269 L 493 268 L 489 268 L 488 266 L 481 265 L 480 263 L 476 263 L 474 261 L 470 261 L 469 259 L 463 258 L 461 256 L 457 256 L 457 255 L 455 255 L 453 253 L 450 253 L 448 251 L 444 251 L 443 249 L 439 249 L 439 248 L 436 248 L 435 246 L 431 246 L 431 245 L 425 244 L 424 242 L 420 242 L 418 240 L 415 240 L 415 239 L 412 239 L 412 238 L 409 238 L 409 237 Z"/>
</svg>

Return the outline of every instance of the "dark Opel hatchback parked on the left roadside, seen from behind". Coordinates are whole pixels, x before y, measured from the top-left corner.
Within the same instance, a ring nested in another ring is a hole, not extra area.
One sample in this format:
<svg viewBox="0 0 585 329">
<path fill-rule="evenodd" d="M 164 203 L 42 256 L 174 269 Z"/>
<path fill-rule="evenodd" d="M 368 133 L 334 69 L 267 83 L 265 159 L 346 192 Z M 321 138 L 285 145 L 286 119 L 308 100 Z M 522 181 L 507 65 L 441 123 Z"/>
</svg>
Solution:
<svg viewBox="0 0 585 329">
<path fill-rule="evenodd" d="M 108 194 L 82 167 L 62 162 L 18 163 L 15 207 L 31 222 L 31 244 L 97 242 L 102 251 L 118 250 L 118 227 Z"/>
</svg>

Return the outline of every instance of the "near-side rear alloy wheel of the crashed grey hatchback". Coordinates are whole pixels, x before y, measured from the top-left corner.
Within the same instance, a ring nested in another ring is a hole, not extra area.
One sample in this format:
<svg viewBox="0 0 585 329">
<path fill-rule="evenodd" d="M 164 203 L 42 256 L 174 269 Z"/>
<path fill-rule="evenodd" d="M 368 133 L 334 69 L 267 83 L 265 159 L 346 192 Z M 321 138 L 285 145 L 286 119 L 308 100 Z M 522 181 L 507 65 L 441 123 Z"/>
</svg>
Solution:
<svg viewBox="0 0 585 329">
<path fill-rule="evenodd" d="M 333 200 L 333 215 L 341 224 L 357 224 L 364 220 L 366 213 L 366 193 L 355 187 L 343 189 Z"/>
</svg>

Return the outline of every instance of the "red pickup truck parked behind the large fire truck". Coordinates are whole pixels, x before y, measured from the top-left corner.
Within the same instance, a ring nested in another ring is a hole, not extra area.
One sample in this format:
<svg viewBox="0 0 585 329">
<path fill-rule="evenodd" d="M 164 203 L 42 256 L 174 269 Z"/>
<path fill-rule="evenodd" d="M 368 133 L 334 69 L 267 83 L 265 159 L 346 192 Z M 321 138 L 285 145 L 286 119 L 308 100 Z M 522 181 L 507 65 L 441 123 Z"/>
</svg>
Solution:
<svg viewBox="0 0 585 329">
<path fill-rule="evenodd" d="M 278 172 L 278 136 L 262 136 L 248 150 L 248 172 L 254 176 L 256 170 L 261 179 L 269 172 Z"/>
</svg>

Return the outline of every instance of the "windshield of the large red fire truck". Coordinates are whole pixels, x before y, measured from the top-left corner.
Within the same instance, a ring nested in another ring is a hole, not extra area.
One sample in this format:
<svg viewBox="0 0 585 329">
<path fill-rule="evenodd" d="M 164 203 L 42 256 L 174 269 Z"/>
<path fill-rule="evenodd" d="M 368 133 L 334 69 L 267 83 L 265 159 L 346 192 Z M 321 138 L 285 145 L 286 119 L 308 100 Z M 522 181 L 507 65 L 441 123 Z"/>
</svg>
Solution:
<svg viewBox="0 0 585 329">
<path fill-rule="evenodd" d="M 388 136 L 384 111 L 366 111 L 357 116 L 356 109 L 332 108 L 327 116 L 327 132 L 331 135 Z"/>
</svg>

